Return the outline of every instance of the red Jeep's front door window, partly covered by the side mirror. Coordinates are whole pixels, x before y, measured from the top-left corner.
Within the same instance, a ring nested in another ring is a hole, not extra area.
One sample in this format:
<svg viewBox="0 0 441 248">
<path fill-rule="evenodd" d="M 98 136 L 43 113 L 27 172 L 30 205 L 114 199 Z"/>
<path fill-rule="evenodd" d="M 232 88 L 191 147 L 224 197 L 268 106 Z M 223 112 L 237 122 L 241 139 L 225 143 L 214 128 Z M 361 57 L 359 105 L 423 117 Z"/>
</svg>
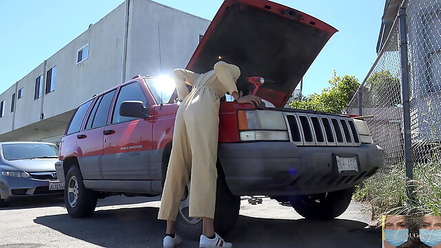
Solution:
<svg viewBox="0 0 441 248">
<path fill-rule="evenodd" d="M 121 87 L 119 91 L 118 98 L 116 99 L 115 108 L 113 111 L 112 123 L 121 123 L 125 121 L 136 120 L 133 117 L 121 116 L 119 114 L 119 109 L 121 107 L 121 103 L 123 101 L 142 101 L 144 106 L 148 106 L 147 99 L 145 98 L 145 94 L 141 85 L 136 81 L 134 83 L 130 83 L 128 85 L 124 85 Z"/>
</svg>

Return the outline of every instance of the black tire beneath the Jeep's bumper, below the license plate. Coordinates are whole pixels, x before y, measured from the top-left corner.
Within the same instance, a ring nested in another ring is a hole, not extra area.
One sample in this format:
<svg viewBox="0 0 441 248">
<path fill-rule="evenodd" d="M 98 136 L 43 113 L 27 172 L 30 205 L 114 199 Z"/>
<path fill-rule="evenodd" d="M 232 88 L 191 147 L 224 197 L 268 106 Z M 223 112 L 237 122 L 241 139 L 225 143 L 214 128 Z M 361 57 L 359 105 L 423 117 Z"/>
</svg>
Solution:
<svg viewBox="0 0 441 248">
<path fill-rule="evenodd" d="M 305 218 L 327 220 L 343 214 L 351 203 L 354 187 L 307 196 L 291 196 L 291 206 Z"/>
</svg>

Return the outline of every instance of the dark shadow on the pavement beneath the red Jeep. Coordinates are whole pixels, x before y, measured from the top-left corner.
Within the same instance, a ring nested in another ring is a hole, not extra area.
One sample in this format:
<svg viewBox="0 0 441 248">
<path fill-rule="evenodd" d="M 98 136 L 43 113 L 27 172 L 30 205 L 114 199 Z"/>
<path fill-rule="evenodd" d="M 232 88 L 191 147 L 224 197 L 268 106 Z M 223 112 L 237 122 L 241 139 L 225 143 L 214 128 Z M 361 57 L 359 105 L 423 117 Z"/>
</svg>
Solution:
<svg viewBox="0 0 441 248">
<path fill-rule="evenodd" d="M 67 214 L 41 216 L 34 223 L 101 247 L 162 247 L 165 221 L 157 220 L 158 208 L 138 207 L 96 211 L 91 218 Z M 362 231 L 355 220 L 279 220 L 239 216 L 226 238 L 234 247 L 380 247 L 381 234 Z M 198 247 L 184 240 L 180 248 Z"/>
</svg>

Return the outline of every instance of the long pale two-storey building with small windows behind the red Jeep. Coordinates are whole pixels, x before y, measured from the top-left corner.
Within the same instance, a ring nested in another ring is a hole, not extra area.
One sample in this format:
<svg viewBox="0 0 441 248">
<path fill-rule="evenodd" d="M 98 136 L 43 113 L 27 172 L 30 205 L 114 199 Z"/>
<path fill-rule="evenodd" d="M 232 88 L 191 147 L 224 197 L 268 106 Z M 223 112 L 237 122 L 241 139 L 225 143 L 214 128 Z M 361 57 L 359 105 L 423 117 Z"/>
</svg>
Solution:
<svg viewBox="0 0 441 248">
<path fill-rule="evenodd" d="M 136 74 L 185 68 L 208 25 L 160 3 L 126 0 L 0 94 L 0 141 L 59 142 L 94 94 Z"/>
</svg>

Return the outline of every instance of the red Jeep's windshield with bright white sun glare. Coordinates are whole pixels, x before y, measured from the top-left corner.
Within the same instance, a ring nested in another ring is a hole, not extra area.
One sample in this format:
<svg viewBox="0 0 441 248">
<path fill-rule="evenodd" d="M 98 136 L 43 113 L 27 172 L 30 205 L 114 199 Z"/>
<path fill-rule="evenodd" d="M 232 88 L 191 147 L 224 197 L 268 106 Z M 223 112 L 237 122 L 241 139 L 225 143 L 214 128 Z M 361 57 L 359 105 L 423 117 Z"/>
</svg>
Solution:
<svg viewBox="0 0 441 248">
<path fill-rule="evenodd" d="M 145 83 L 147 83 L 147 87 L 149 87 L 150 91 L 156 100 L 156 103 L 168 103 L 174 90 L 176 89 L 176 85 L 174 84 L 174 80 L 167 76 L 160 76 L 152 79 L 144 79 Z"/>
</svg>

